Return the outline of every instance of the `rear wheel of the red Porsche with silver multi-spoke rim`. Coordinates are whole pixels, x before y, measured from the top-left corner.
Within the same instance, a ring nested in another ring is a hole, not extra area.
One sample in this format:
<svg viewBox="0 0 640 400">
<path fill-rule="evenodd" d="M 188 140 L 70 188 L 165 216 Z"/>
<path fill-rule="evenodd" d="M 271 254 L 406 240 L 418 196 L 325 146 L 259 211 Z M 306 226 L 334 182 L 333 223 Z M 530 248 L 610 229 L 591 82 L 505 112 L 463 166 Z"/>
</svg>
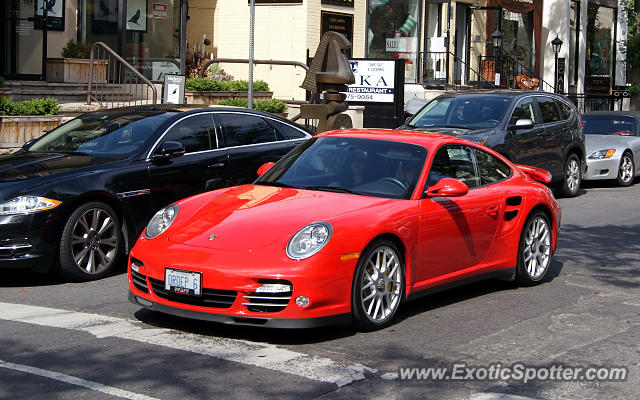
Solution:
<svg viewBox="0 0 640 400">
<path fill-rule="evenodd" d="M 540 283 L 549 272 L 553 230 L 547 216 L 537 211 L 529 215 L 520 234 L 516 281 L 524 286 Z"/>
</svg>

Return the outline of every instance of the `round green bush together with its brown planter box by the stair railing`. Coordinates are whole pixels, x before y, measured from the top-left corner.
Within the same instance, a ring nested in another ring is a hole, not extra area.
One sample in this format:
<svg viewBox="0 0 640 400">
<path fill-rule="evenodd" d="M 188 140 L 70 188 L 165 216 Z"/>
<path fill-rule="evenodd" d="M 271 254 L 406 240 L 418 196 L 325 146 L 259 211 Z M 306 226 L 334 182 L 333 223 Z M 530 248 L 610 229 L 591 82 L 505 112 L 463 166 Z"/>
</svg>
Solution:
<svg viewBox="0 0 640 400">
<path fill-rule="evenodd" d="M 47 82 L 88 83 L 90 44 L 69 40 L 62 58 L 47 58 Z M 93 61 L 93 81 L 106 82 L 107 60 Z"/>
</svg>

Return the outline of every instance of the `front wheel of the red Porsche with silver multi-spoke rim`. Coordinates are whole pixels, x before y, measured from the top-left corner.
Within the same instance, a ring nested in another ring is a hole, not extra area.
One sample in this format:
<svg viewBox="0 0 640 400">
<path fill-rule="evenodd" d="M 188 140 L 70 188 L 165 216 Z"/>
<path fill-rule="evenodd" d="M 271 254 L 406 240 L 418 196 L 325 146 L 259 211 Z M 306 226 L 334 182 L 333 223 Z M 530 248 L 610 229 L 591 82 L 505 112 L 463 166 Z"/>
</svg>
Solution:
<svg viewBox="0 0 640 400">
<path fill-rule="evenodd" d="M 387 265 L 386 268 L 383 265 Z M 388 326 L 404 294 L 404 258 L 395 244 L 376 240 L 363 252 L 351 293 L 353 324 L 374 331 Z"/>
</svg>

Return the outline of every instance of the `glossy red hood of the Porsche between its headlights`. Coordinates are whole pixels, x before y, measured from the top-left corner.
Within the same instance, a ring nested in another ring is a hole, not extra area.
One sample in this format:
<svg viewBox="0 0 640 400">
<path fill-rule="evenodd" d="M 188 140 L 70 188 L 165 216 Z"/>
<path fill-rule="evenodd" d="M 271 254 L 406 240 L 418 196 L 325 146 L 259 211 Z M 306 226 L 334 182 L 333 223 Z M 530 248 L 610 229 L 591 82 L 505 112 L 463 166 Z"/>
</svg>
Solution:
<svg viewBox="0 0 640 400">
<path fill-rule="evenodd" d="M 178 224 L 170 228 L 168 239 L 210 249 L 257 250 L 277 241 L 284 245 L 312 222 L 331 222 L 339 215 L 393 201 L 397 200 L 272 186 L 236 186 L 209 193 L 197 211 L 176 221 Z"/>
</svg>

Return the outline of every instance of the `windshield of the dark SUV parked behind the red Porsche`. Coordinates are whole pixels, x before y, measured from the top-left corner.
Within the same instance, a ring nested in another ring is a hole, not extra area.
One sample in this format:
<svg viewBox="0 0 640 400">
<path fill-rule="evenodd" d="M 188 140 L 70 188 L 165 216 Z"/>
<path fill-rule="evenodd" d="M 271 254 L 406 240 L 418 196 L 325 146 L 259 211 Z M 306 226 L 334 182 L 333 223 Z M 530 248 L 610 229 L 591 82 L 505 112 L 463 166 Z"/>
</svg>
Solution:
<svg viewBox="0 0 640 400">
<path fill-rule="evenodd" d="M 438 97 L 411 119 L 412 128 L 495 128 L 502 120 L 511 98 L 507 96 Z"/>
</svg>

